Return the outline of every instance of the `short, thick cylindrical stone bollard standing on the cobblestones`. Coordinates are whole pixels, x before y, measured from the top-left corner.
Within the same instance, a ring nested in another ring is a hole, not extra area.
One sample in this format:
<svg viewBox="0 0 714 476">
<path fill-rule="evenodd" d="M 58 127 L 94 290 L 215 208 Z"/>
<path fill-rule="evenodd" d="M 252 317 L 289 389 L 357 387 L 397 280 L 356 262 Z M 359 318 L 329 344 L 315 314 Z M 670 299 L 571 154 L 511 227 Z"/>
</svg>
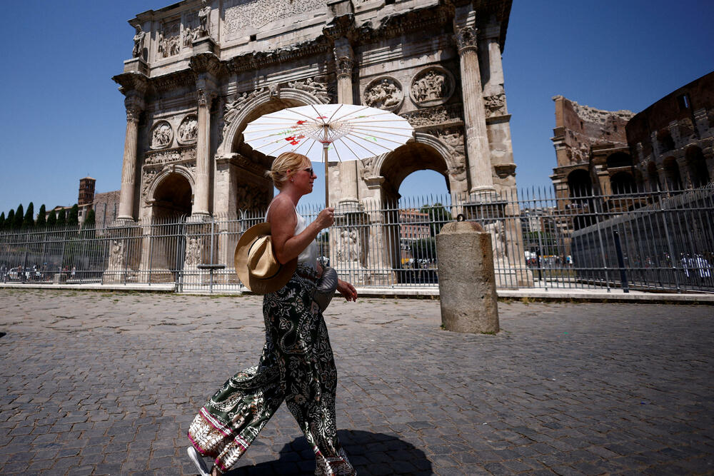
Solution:
<svg viewBox="0 0 714 476">
<path fill-rule="evenodd" d="M 478 223 L 446 223 L 436 236 L 441 322 L 460 333 L 497 333 L 491 233 Z"/>
</svg>

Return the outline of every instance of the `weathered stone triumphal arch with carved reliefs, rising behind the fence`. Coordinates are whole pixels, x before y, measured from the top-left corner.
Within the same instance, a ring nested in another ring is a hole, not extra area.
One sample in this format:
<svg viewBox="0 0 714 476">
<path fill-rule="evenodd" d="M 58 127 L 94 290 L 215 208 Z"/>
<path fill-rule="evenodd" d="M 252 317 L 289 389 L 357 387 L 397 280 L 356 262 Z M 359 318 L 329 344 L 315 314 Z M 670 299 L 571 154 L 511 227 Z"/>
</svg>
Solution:
<svg viewBox="0 0 714 476">
<path fill-rule="evenodd" d="M 510 196 L 501 66 L 510 11 L 511 0 L 185 0 L 137 15 L 132 58 L 114 76 L 126 96 L 119 221 L 201 223 L 265 208 L 271 158 L 242 131 L 265 113 L 316 103 L 383 108 L 415 128 L 392 153 L 329 164 L 331 204 L 360 223 L 384 221 L 360 213 L 398 198 L 403 179 L 423 169 L 474 202 Z M 231 245 L 218 240 L 214 258 L 229 268 Z M 206 262 L 189 248 L 201 246 L 186 246 L 186 263 Z"/>
</svg>

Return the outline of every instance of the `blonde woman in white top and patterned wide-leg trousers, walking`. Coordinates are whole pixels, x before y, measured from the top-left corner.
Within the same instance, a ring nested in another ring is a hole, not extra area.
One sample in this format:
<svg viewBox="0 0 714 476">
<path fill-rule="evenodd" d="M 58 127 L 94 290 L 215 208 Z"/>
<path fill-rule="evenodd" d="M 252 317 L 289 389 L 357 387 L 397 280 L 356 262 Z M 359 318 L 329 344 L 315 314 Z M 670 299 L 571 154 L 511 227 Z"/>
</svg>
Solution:
<svg viewBox="0 0 714 476">
<path fill-rule="evenodd" d="M 315 474 L 356 475 L 338 441 L 337 370 L 325 321 L 312 300 L 322 273 L 315 239 L 333 224 L 334 209 L 324 209 L 309 225 L 298 215 L 298 201 L 317 178 L 306 156 L 283 153 L 269 174 L 280 191 L 266 218 L 273 253 L 281 265 L 297 259 L 296 270 L 286 285 L 263 298 L 266 344 L 258 365 L 233 375 L 201 407 L 188 429 L 188 455 L 201 475 L 222 474 L 284 400 L 315 452 Z M 350 283 L 338 280 L 337 289 L 346 300 L 356 300 Z M 201 456 L 214 460 L 210 473 Z"/>
</svg>

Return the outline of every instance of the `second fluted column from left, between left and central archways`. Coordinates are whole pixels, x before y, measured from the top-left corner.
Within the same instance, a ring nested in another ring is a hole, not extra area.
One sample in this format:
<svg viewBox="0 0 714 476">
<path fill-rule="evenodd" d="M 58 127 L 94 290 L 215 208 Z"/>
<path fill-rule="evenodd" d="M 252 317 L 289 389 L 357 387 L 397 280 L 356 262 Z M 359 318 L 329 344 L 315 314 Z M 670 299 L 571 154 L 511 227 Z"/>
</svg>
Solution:
<svg viewBox="0 0 714 476">
<path fill-rule="evenodd" d="M 198 138 L 196 141 L 196 190 L 192 216 L 208 216 L 211 195 L 211 101 L 215 93 L 198 88 Z"/>
</svg>

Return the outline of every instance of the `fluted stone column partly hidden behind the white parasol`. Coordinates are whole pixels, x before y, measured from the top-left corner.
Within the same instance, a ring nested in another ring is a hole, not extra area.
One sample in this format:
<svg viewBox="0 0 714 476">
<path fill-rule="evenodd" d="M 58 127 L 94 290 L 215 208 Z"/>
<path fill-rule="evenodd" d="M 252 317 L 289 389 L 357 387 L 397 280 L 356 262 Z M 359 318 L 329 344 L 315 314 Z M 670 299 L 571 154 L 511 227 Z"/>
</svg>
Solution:
<svg viewBox="0 0 714 476">
<path fill-rule="evenodd" d="M 352 71 L 354 67 L 354 52 L 346 37 L 342 36 L 335 40 L 335 61 L 337 71 L 337 102 L 342 104 L 353 104 Z M 340 204 L 357 202 L 357 162 L 349 161 L 341 163 L 340 171 Z"/>
</svg>

